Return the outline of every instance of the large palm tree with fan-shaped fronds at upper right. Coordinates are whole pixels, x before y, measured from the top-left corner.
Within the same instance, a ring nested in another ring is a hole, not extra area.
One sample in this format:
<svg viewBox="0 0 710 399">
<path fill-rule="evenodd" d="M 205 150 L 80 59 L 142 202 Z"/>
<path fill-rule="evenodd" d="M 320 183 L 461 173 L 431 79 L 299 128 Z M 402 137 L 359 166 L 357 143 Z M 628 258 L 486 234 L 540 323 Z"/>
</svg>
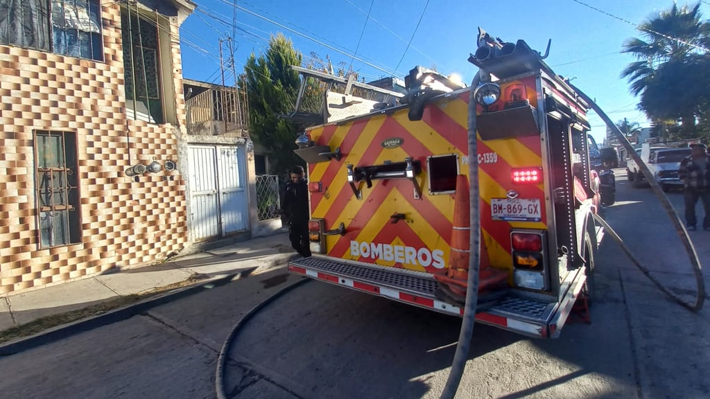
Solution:
<svg viewBox="0 0 710 399">
<path fill-rule="evenodd" d="M 640 95 L 639 108 L 650 119 L 682 121 L 682 134 L 697 133 L 696 120 L 709 98 L 710 23 L 702 21 L 699 4 L 677 6 L 640 24 L 647 40 L 630 38 L 623 53 L 635 55 L 621 76 L 630 92 Z"/>
</svg>

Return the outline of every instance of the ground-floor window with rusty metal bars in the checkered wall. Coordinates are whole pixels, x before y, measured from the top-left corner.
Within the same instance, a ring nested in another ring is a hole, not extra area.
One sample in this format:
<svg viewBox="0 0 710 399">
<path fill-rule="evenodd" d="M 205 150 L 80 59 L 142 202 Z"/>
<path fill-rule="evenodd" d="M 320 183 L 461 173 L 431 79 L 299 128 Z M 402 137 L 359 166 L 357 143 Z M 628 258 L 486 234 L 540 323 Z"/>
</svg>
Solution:
<svg viewBox="0 0 710 399">
<path fill-rule="evenodd" d="M 35 197 L 41 248 L 81 241 L 76 133 L 35 131 Z"/>
</svg>

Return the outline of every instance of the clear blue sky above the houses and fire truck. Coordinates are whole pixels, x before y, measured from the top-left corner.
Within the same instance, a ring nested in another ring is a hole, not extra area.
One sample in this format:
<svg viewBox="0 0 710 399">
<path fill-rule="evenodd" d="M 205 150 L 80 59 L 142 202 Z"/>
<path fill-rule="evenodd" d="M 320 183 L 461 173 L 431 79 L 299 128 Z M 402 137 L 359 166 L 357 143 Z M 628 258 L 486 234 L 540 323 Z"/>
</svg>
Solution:
<svg viewBox="0 0 710 399">
<path fill-rule="evenodd" d="M 671 0 L 193 1 L 197 10 L 180 30 L 188 79 L 222 82 L 220 38 L 225 58 L 227 38 L 232 38 L 239 74 L 251 53 L 266 49 L 269 35 L 282 32 L 305 58 L 315 52 L 336 63 L 352 63 L 366 80 L 403 77 L 416 65 L 436 65 L 439 72 L 457 73 L 470 82 L 477 67 L 466 59 L 476 50 L 481 26 L 505 41 L 523 39 L 542 53 L 551 39 L 547 65 L 573 78 L 614 121 L 627 118 L 642 127 L 649 122 L 636 109 L 638 99 L 629 94 L 628 82 L 620 77 L 634 58 L 622 54 L 621 48 L 626 39 L 643 37 L 633 24 L 673 4 Z M 700 9 L 704 18 L 710 17 L 710 1 L 701 1 Z M 232 84 L 229 69 L 226 82 Z M 590 122 L 592 134 L 601 142 L 603 121 L 591 113 Z"/>
</svg>

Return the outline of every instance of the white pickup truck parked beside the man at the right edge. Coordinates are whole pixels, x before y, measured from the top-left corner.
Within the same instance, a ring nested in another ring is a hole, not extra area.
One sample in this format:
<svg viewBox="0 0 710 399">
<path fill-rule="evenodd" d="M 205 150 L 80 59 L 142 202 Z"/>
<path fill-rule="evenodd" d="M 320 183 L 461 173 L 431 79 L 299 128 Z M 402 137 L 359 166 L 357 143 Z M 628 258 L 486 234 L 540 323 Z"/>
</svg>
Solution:
<svg viewBox="0 0 710 399">
<path fill-rule="evenodd" d="M 654 147 L 648 148 L 648 153 L 638 148 L 636 153 L 642 160 L 648 159 L 646 165 L 663 191 L 674 187 L 682 187 L 683 182 L 678 177 L 680 161 L 690 155 L 690 148 Z M 648 157 L 648 158 L 647 158 Z M 641 187 L 645 180 L 633 158 L 626 160 L 626 175 L 633 182 L 633 187 Z"/>
</svg>

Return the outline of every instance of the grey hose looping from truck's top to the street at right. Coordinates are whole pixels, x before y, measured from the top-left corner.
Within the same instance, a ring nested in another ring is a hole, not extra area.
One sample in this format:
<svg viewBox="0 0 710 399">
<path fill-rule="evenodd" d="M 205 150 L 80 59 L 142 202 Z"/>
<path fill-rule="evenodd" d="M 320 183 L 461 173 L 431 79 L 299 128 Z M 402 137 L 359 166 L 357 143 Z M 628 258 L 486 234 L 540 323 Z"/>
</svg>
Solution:
<svg viewBox="0 0 710 399">
<path fill-rule="evenodd" d="M 695 247 L 693 246 L 692 241 L 690 241 L 690 237 L 688 236 L 688 231 L 685 229 L 683 222 L 680 220 L 680 217 L 678 214 L 675 212 L 673 209 L 673 205 L 670 203 L 670 200 L 668 200 L 668 197 L 666 197 L 665 192 L 661 189 L 660 185 L 656 182 L 655 178 L 651 174 L 650 170 L 648 169 L 648 166 L 646 165 L 643 160 L 641 160 L 641 157 L 636 153 L 635 148 L 631 146 L 631 143 L 626 139 L 626 136 L 621 133 L 621 130 L 618 129 L 616 124 L 614 124 L 611 119 L 604 113 L 604 111 L 601 110 L 599 105 L 594 102 L 593 99 L 589 98 L 584 92 L 582 92 L 580 89 L 577 87 L 574 87 L 571 83 L 568 82 L 570 86 L 579 94 L 579 97 L 584 99 L 584 101 L 587 102 L 591 106 L 594 111 L 596 111 L 599 116 L 601 116 L 601 119 L 606 123 L 606 126 L 608 129 L 611 129 L 613 133 L 616 135 L 616 138 L 618 138 L 619 142 L 623 144 L 624 148 L 626 148 L 626 151 L 631 155 L 633 160 L 636 161 L 636 164 L 640 168 L 641 172 L 643 175 L 646 177 L 646 180 L 649 182 L 651 185 L 651 189 L 653 190 L 653 193 L 655 196 L 658 198 L 658 200 L 661 203 L 661 206 L 665 210 L 665 212 L 668 214 L 668 217 L 671 219 L 671 222 L 673 223 L 673 226 L 675 228 L 676 233 L 680 237 L 680 241 L 682 241 L 683 246 L 685 248 L 685 251 L 688 254 L 688 258 L 690 259 L 690 263 L 692 264 L 692 269 L 693 273 L 695 275 L 695 283 L 697 284 L 697 296 L 695 297 L 695 302 L 694 303 L 689 303 L 685 302 L 682 300 L 678 295 L 674 294 L 671 290 L 665 287 L 665 285 L 662 285 L 660 281 L 658 281 L 656 278 L 654 278 L 650 272 L 648 271 L 647 268 L 644 268 L 641 263 L 638 261 L 638 259 L 633 256 L 626 245 L 623 244 L 623 241 L 621 238 L 616 234 L 616 231 L 613 231 L 611 229 L 611 226 L 609 226 L 606 222 L 599 217 L 599 215 L 595 215 L 595 219 L 597 222 L 599 222 L 602 226 L 604 226 L 608 231 L 611 233 L 611 236 L 618 242 L 618 244 L 621 245 L 621 248 L 623 251 L 626 253 L 626 255 L 631 259 L 631 261 L 638 267 L 641 272 L 646 275 L 657 287 L 666 295 L 672 298 L 675 302 L 678 302 L 680 305 L 683 307 L 686 307 L 688 310 L 691 310 L 692 312 L 698 312 L 699 310 L 702 309 L 703 303 L 705 302 L 705 282 L 703 280 L 703 272 L 702 268 L 700 266 L 700 260 L 698 259 L 698 254 L 695 251 Z"/>
</svg>

